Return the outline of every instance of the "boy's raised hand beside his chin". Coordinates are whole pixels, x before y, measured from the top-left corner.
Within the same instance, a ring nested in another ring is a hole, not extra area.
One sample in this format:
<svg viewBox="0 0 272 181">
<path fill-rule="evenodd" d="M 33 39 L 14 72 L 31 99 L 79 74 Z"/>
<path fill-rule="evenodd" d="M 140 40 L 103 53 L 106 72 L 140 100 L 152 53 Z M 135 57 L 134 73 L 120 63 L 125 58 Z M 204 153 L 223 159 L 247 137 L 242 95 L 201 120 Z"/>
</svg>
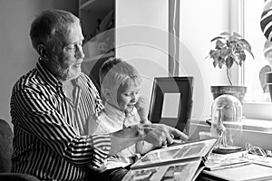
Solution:
<svg viewBox="0 0 272 181">
<path fill-rule="evenodd" d="M 149 106 L 148 99 L 145 96 L 140 96 L 135 107 L 141 119 L 141 123 L 148 123 Z"/>
</svg>

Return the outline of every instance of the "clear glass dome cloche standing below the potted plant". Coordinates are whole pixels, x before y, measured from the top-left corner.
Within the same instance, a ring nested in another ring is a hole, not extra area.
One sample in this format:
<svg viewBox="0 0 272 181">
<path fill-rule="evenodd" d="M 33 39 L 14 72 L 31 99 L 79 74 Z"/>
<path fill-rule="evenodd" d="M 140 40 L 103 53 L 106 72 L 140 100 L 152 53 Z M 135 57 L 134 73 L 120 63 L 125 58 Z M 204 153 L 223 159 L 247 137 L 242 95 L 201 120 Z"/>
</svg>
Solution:
<svg viewBox="0 0 272 181">
<path fill-rule="evenodd" d="M 213 101 L 210 136 L 219 138 L 218 149 L 241 149 L 242 119 L 242 105 L 236 97 L 224 94 Z"/>
</svg>

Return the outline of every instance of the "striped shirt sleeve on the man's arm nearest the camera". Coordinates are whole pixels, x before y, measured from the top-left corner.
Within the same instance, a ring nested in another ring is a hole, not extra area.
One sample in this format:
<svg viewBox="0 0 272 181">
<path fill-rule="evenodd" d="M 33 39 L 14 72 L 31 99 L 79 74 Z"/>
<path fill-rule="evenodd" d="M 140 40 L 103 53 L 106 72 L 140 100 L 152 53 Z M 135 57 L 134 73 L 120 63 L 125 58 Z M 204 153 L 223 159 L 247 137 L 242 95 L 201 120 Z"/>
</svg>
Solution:
<svg viewBox="0 0 272 181">
<path fill-rule="evenodd" d="M 80 136 L 50 96 L 34 88 L 18 90 L 11 99 L 13 123 L 34 135 L 77 166 L 100 167 L 111 149 L 109 135 Z"/>
</svg>

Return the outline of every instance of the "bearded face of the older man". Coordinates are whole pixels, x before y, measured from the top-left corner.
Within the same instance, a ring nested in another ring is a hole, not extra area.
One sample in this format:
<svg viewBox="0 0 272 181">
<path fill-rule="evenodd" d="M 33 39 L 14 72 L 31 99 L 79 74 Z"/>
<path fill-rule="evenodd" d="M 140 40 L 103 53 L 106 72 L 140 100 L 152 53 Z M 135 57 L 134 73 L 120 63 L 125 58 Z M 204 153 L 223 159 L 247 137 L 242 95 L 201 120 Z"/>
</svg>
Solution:
<svg viewBox="0 0 272 181">
<path fill-rule="evenodd" d="M 83 62 L 83 33 L 79 24 L 72 24 L 63 40 L 54 46 L 51 56 L 53 73 L 63 81 L 72 80 L 81 73 Z"/>
</svg>

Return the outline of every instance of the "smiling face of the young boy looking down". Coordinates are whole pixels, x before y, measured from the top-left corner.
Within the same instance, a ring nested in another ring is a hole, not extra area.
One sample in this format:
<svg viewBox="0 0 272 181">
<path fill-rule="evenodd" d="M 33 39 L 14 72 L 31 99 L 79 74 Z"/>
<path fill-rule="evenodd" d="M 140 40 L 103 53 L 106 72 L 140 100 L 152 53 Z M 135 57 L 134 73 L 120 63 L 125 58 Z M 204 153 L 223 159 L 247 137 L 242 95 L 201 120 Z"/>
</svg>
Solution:
<svg viewBox="0 0 272 181">
<path fill-rule="evenodd" d="M 126 81 L 117 91 L 112 92 L 112 99 L 108 100 L 110 104 L 123 110 L 125 112 L 131 112 L 139 100 L 139 91 L 141 84 L 135 83 L 135 81 Z M 114 96 L 116 95 L 116 96 Z"/>
</svg>

